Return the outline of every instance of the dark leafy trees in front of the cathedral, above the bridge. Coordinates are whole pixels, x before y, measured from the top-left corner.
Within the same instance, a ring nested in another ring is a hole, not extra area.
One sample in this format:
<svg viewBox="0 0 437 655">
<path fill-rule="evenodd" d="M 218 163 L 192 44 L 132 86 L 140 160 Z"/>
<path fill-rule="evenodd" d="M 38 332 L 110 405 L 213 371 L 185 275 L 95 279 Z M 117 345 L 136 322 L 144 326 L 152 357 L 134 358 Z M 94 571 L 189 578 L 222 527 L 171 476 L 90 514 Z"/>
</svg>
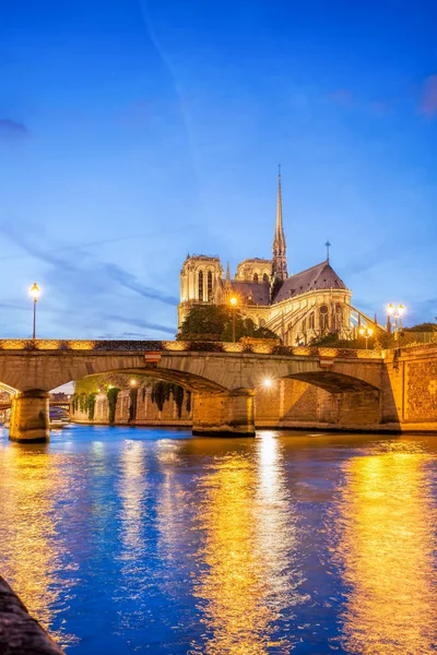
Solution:
<svg viewBox="0 0 437 655">
<path fill-rule="evenodd" d="M 268 327 L 257 327 L 252 319 L 244 319 L 238 309 L 225 305 L 194 305 L 184 321 L 177 338 L 232 342 L 234 312 L 236 341 L 244 336 L 277 338 L 277 335 Z"/>
</svg>

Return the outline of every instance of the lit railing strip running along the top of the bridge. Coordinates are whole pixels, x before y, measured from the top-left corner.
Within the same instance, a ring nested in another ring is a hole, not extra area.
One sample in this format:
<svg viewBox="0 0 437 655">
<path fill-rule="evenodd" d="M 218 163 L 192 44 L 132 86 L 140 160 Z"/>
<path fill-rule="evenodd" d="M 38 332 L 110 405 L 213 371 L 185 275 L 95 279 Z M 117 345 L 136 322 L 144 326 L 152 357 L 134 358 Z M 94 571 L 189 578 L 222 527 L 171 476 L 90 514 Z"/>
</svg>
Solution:
<svg viewBox="0 0 437 655">
<path fill-rule="evenodd" d="M 260 340 L 260 343 L 228 343 L 212 341 L 121 341 L 121 340 L 0 340 L 0 353 L 12 350 L 27 352 L 94 352 L 94 353 L 253 353 L 257 355 L 280 355 L 299 357 L 381 359 L 380 350 L 354 348 L 332 348 L 311 346 L 282 346 L 274 341 Z"/>
</svg>

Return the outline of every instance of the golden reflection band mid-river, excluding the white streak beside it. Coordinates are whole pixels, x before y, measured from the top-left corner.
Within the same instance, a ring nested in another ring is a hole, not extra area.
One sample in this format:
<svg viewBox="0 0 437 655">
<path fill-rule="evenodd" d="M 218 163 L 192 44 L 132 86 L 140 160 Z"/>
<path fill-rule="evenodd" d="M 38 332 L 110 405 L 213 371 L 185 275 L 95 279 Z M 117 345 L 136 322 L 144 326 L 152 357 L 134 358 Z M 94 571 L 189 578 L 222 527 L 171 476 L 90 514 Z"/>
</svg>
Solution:
<svg viewBox="0 0 437 655">
<path fill-rule="evenodd" d="M 281 647 L 277 652 L 288 653 L 290 644 L 282 650 L 283 642 L 272 641 L 279 611 L 269 603 L 265 567 L 270 568 L 265 545 L 260 548 L 256 464 L 237 453 L 224 455 L 203 476 L 201 489 L 199 528 L 204 541 L 193 593 L 205 634 L 194 652 L 262 655 Z"/>
</svg>

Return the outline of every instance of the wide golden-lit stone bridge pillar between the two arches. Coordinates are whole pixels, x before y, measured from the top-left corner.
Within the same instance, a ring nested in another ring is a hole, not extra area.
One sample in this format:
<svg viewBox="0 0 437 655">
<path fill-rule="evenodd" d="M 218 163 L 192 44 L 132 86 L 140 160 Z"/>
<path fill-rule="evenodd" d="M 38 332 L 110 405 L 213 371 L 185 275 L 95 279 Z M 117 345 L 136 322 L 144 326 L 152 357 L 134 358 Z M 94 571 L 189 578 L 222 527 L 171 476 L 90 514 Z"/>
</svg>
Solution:
<svg viewBox="0 0 437 655">
<path fill-rule="evenodd" d="M 194 393 L 192 433 L 210 437 L 255 437 L 253 389 L 228 393 Z"/>
</svg>

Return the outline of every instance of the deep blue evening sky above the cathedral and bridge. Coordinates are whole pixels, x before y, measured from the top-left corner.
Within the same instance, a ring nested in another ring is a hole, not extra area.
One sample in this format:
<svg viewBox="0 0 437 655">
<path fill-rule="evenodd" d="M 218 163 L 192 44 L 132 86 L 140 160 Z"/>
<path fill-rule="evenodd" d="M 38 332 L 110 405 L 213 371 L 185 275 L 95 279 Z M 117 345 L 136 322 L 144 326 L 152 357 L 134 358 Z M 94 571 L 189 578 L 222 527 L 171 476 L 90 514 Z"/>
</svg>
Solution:
<svg viewBox="0 0 437 655">
<path fill-rule="evenodd" d="M 187 252 L 437 314 L 434 0 L 2 0 L 0 335 L 168 338 Z"/>
</svg>

